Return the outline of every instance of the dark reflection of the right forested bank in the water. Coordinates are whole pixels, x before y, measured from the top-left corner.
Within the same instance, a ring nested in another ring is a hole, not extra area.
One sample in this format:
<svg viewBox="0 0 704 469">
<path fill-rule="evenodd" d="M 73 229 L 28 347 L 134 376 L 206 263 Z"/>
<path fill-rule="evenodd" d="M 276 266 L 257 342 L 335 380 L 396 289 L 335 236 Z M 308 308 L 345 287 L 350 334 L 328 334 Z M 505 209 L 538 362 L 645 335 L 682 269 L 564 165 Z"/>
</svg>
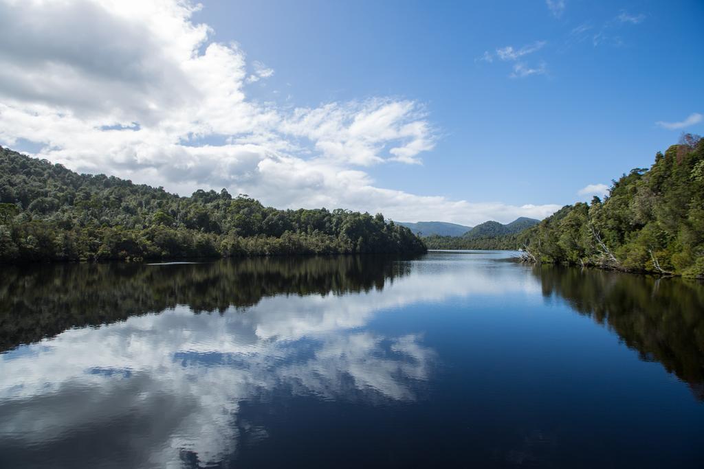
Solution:
<svg viewBox="0 0 704 469">
<path fill-rule="evenodd" d="M 619 335 L 645 361 L 658 361 L 704 400 L 704 286 L 598 269 L 535 266 L 543 295 L 565 298 L 575 311 Z"/>
</svg>

